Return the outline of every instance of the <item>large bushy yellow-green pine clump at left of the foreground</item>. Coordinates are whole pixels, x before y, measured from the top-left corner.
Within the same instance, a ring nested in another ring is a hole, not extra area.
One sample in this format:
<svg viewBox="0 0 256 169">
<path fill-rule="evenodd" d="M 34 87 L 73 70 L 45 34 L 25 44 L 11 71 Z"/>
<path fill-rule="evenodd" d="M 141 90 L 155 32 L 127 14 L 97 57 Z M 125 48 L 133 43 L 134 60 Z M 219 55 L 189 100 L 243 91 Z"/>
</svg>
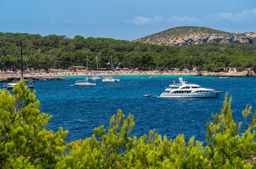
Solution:
<svg viewBox="0 0 256 169">
<path fill-rule="evenodd" d="M 40 113 L 35 92 L 24 81 L 0 90 L 0 168 L 53 168 L 64 151 L 67 132 L 45 129 L 51 115 Z"/>
</svg>

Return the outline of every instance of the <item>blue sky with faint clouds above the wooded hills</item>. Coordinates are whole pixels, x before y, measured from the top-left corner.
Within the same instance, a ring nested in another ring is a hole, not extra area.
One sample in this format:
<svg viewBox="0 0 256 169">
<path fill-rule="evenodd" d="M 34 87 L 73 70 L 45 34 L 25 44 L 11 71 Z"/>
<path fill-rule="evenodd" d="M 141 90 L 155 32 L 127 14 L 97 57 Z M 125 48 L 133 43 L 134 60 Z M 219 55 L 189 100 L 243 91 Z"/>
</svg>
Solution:
<svg viewBox="0 0 256 169">
<path fill-rule="evenodd" d="M 0 32 L 132 41 L 179 26 L 256 32 L 256 0 L 0 0 Z"/>
</svg>

